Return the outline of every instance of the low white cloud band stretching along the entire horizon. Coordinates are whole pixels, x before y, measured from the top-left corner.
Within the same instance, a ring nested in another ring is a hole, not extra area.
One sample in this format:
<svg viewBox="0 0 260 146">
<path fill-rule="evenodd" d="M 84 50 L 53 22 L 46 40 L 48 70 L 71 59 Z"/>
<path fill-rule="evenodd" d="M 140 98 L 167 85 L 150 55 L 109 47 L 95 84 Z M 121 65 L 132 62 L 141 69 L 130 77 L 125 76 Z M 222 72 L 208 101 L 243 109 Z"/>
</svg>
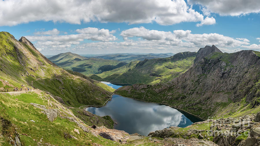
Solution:
<svg viewBox="0 0 260 146">
<path fill-rule="evenodd" d="M 49 50 L 75 50 L 87 53 L 125 53 L 125 52 L 172 52 L 197 51 L 206 45 L 216 45 L 224 52 L 235 52 L 240 48 L 252 48 L 246 38 L 231 38 L 218 33 L 194 34 L 190 30 L 158 31 L 145 27 L 135 27 L 121 31 L 124 40 L 118 41 L 108 29 L 83 28 L 70 35 L 31 35 L 25 36 L 35 42 L 42 53 Z M 137 38 L 132 39 L 132 38 Z M 95 42 L 83 42 L 84 40 Z M 256 46 L 255 46 L 256 48 Z M 252 49 L 255 49 L 252 48 Z"/>
</svg>

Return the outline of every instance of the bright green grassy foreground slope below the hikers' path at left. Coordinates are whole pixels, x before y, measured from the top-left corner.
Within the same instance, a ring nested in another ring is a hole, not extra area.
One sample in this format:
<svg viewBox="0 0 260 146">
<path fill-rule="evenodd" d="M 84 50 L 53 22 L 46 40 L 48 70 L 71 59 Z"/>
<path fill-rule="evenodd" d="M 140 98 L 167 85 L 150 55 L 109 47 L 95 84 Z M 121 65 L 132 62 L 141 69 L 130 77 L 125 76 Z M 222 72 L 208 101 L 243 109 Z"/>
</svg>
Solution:
<svg viewBox="0 0 260 146">
<path fill-rule="evenodd" d="M 20 133 L 19 137 L 22 145 L 37 146 L 40 143 L 46 143 L 45 145 L 92 145 L 91 143 L 93 142 L 101 145 L 118 145 L 113 143 L 113 141 L 100 139 L 100 137 L 95 137 L 91 133 L 84 132 L 75 122 L 66 118 L 58 116 L 55 121 L 51 122 L 41 112 L 41 109 L 29 104 L 31 102 L 44 105 L 48 108 L 53 108 L 52 106 L 59 107 L 60 116 L 75 117 L 69 109 L 55 102 L 53 98 L 50 98 L 45 93 L 27 92 L 18 95 L 0 93 L 0 134 L 3 135 L 0 138 L 0 141 L 3 142 L 0 144 L 9 145 L 9 137 L 15 139 L 16 132 L 18 132 Z M 95 120 L 87 119 L 85 123 L 100 121 L 98 125 L 111 126 L 111 124 L 106 124 L 109 123 L 109 120 L 105 120 L 104 118 L 98 116 Z M 102 124 L 101 121 L 103 122 Z M 74 132 L 74 128 L 78 129 L 80 134 Z M 64 138 L 64 133 L 75 136 L 77 140 L 74 138 Z"/>
</svg>

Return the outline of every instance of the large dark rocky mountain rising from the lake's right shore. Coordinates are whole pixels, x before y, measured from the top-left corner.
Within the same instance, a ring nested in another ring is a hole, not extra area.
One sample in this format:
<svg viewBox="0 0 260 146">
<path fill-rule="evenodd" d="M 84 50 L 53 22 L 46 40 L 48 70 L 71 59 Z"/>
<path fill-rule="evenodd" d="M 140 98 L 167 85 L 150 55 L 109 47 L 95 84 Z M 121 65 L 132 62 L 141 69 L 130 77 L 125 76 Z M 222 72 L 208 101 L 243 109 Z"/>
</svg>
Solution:
<svg viewBox="0 0 260 146">
<path fill-rule="evenodd" d="M 222 53 L 215 46 L 200 48 L 194 65 L 168 83 L 135 84 L 115 93 L 180 108 L 203 119 L 238 117 L 260 110 L 260 53 Z"/>
</svg>

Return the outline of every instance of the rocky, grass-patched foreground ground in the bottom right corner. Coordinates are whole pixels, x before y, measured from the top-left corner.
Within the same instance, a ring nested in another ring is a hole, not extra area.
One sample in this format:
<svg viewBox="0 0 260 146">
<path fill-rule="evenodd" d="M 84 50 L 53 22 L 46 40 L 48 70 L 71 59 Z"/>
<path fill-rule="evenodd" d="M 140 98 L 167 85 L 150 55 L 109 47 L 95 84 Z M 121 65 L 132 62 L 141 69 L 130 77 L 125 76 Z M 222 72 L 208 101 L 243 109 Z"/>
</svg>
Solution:
<svg viewBox="0 0 260 146">
<path fill-rule="evenodd" d="M 164 139 L 197 137 L 203 141 L 208 141 L 210 137 L 213 137 L 212 141 L 220 146 L 257 146 L 260 145 L 260 122 L 253 121 L 255 117 L 255 115 L 246 115 L 239 118 L 210 119 L 187 126 L 186 128 L 189 128 L 187 131 L 179 127 L 170 127 L 150 132 L 148 136 Z"/>
</svg>

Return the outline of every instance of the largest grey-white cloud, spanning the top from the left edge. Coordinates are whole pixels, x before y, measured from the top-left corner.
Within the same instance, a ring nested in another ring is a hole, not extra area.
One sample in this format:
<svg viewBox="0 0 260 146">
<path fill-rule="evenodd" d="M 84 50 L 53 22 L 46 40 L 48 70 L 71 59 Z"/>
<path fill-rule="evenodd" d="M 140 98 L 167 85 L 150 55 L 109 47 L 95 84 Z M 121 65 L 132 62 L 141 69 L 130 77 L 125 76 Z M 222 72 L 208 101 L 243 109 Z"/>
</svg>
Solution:
<svg viewBox="0 0 260 146">
<path fill-rule="evenodd" d="M 72 24 L 156 22 L 160 25 L 205 21 L 204 16 L 184 0 L 8 0 L 0 1 L 0 20 L 0 26 L 39 20 Z"/>
</svg>

